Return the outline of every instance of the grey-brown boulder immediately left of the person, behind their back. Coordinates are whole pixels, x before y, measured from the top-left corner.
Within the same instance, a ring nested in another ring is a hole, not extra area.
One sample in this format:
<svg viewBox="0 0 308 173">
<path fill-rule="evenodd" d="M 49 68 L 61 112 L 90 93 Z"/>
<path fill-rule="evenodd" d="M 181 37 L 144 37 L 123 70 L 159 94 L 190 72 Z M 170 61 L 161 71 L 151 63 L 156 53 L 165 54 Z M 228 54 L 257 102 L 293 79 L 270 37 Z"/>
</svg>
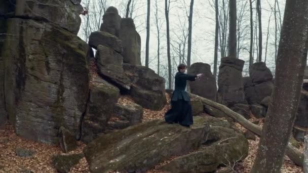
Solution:
<svg viewBox="0 0 308 173">
<path fill-rule="evenodd" d="M 123 68 L 132 82 L 130 95 L 137 104 L 152 110 L 161 110 L 166 105 L 163 77 L 140 65 L 123 64 Z"/>
</svg>

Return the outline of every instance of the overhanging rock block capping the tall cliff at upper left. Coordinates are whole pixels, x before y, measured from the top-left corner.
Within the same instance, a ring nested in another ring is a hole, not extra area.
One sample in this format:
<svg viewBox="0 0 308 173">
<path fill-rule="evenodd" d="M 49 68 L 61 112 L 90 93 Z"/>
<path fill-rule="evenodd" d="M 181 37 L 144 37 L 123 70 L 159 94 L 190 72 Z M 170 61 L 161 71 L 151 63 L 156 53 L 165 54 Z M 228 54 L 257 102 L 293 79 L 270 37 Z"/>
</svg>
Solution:
<svg viewBox="0 0 308 173">
<path fill-rule="evenodd" d="M 73 4 L 71 0 L 54 1 L 0 1 L 0 16 L 17 16 L 57 24 L 58 26 L 77 34 L 81 25 L 80 14 L 83 7 Z M 2 3 L 4 2 L 4 3 Z M 4 6 L 3 6 L 4 4 Z"/>
</svg>

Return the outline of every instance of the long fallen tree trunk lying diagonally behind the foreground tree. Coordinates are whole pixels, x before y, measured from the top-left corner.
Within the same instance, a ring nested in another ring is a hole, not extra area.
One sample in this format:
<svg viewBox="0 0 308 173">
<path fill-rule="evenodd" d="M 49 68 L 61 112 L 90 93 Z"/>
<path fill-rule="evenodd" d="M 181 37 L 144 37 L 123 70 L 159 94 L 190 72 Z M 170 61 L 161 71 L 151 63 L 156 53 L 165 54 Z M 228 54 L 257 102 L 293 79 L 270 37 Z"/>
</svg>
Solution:
<svg viewBox="0 0 308 173">
<path fill-rule="evenodd" d="M 216 103 L 214 101 L 199 97 L 197 95 L 190 94 L 190 98 L 195 98 L 200 100 L 205 108 L 205 111 L 215 117 L 231 117 L 238 123 L 240 123 L 245 128 L 254 134 L 261 136 L 262 128 L 249 120 L 247 120 L 243 115 L 236 113 L 229 109 L 228 107 Z M 293 147 L 290 143 L 287 146 L 286 155 L 298 166 L 303 166 L 304 155 L 297 148 Z"/>
</svg>

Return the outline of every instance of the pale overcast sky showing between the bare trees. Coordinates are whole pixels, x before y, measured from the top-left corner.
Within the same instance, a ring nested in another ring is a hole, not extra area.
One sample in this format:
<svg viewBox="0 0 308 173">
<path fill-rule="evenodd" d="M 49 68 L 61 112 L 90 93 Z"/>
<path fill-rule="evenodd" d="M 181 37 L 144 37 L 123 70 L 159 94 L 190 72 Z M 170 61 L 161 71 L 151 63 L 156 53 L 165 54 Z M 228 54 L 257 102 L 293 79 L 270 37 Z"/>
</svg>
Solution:
<svg viewBox="0 0 308 173">
<path fill-rule="evenodd" d="M 92 0 L 93 2 L 98 0 Z M 146 40 L 146 1 L 145 0 L 134 0 L 136 2 L 136 10 L 134 11 L 133 18 L 135 25 L 137 26 L 137 31 L 141 36 L 141 61 L 144 65 L 144 57 L 145 57 L 145 40 Z M 159 4 L 159 17 L 162 25 L 162 33 L 161 33 L 161 61 L 163 65 L 167 65 L 167 50 L 166 50 L 166 23 L 165 23 L 165 1 L 158 0 Z M 219 3 L 222 1 L 219 0 Z M 109 0 L 107 4 L 109 6 L 114 6 L 118 8 L 120 15 L 123 17 L 126 9 L 127 0 Z M 214 33 L 215 33 L 215 11 L 211 6 L 212 0 L 195 0 L 194 4 L 194 15 L 193 15 L 193 45 L 192 45 L 192 55 L 191 55 L 191 64 L 195 62 L 204 62 L 208 64 L 213 63 L 214 59 Z M 238 13 L 240 11 L 240 6 L 247 3 L 246 8 L 244 9 L 244 22 L 241 27 L 247 27 L 246 37 L 242 42 L 242 46 L 248 48 L 249 50 L 249 39 L 250 39 L 250 12 L 249 12 L 249 1 L 246 0 L 238 0 Z M 271 6 L 274 6 L 274 0 L 263 0 L 261 1 L 262 8 L 262 33 L 263 33 L 263 59 L 265 55 L 265 44 L 266 44 L 266 36 L 267 36 L 267 26 L 268 19 L 272 13 Z M 186 4 L 186 5 L 184 5 Z M 154 22 L 154 12 L 155 12 L 155 0 L 151 0 L 151 13 L 150 13 L 150 68 L 157 71 L 157 31 Z M 171 11 L 170 11 L 170 34 L 171 39 L 176 40 L 175 33 L 180 33 L 179 26 L 186 22 L 188 27 L 188 18 L 186 16 L 186 11 L 189 12 L 190 0 L 178 0 L 177 2 L 171 3 Z M 279 6 L 281 10 L 281 15 L 283 15 L 285 1 L 279 1 Z M 186 9 L 185 9 L 186 7 Z M 255 8 L 255 3 L 253 3 L 253 8 Z M 91 13 L 91 9 L 89 9 Z M 254 20 L 255 20 L 255 9 L 254 9 Z M 283 18 L 283 16 L 282 16 Z M 82 16 L 84 21 L 85 16 Z M 275 19 L 274 15 L 271 17 L 270 21 L 270 32 L 268 39 L 268 52 L 267 52 L 267 64 L 271 66 L 274 70 L 274 62 L 275 62 Z M 79 36 L 83 38 L 82 33 L 79 33 Z M 218 55 L 220 55 L 218 53 Z M 256 55 L 255 55 L 256 57 Z M 219 57 L 220 58 L 220 57 Z M 246 50 L 241 50 L 240 59 L 246 61 L 245 64 L 248 63 L 249 53 Z M 213 67 L 212 67 L 213 68 Z"/>
</svg>

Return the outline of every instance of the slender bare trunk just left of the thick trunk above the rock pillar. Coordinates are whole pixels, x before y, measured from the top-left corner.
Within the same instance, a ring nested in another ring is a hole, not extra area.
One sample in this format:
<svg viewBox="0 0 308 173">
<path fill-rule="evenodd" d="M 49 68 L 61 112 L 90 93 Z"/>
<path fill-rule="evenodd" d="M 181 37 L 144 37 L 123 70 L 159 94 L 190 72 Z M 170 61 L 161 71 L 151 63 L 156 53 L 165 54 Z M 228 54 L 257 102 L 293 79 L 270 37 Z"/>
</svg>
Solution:
<svg viewBox="0 0 308 173">
<path fill-rule="evenodd" d="M 217 61 L 218 61 L 218 34 L 219 34 L 219 18 L 218 18 L 218 0 L 215 0 L 215 16 L 216 16 L 216 26 L 215 26 L 215 50 L 214 50 L 214 77 L 217 78 Z"/>
</svg>

